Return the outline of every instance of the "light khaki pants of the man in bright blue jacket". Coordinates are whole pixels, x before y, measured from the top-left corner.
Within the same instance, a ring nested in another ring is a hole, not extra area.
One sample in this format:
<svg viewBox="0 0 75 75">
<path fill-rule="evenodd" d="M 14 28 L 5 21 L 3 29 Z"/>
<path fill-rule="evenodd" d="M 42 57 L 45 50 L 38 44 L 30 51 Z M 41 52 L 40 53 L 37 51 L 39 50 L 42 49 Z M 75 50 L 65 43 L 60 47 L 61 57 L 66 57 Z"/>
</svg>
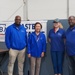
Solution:
<svg viewBox="0 0 75 75">
<path fill-rule="evenodd" d="M 10 49 L 10 51 L 9 51 L 9 63 L 8 63 L 8 75 L 13 75 L 13 68 L 14 68 L 14 63 L 15 63 L 16 58 L 18 58 L 19 75 L 23 75 L 25 51 L 26 51 L 26 48 L 24 48 L 21 51 L 15 50 L 15 49 Z"/>
</svg>

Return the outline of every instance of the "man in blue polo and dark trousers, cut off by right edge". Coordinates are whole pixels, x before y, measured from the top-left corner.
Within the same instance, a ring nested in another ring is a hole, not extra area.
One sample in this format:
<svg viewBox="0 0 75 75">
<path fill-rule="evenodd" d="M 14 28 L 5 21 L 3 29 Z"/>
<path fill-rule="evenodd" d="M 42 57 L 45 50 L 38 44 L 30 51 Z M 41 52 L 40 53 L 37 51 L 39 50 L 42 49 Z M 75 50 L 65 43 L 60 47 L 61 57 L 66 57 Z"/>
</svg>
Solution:
<svg viewBox="0 0 75 75">
<path fill-rule="evenodd" d="M 66 48 L 69 56 L 69 75 L 75 75 L 75 16 L 68 18 L 69 28 L 66 31 Z"/>
</svg>

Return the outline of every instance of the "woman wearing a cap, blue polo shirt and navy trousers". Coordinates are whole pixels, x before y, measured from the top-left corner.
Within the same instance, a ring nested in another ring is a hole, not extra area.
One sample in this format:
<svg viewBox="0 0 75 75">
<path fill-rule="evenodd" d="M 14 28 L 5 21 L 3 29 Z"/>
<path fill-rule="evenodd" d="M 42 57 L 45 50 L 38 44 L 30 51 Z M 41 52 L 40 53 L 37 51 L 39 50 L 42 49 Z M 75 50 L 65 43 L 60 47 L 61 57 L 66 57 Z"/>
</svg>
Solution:
<svg viewBox="0 0 75 75">
<path fill-rule="evenodd" d="M 63 58 L 64 58 L 64 38 L 65 31 L 60 27 L 59 19 L 53 21 L 53 29 L 49 31 L 49 42 L 51 45 L 51 58 L 55 75 L 62 74 Z"/>
</svg>

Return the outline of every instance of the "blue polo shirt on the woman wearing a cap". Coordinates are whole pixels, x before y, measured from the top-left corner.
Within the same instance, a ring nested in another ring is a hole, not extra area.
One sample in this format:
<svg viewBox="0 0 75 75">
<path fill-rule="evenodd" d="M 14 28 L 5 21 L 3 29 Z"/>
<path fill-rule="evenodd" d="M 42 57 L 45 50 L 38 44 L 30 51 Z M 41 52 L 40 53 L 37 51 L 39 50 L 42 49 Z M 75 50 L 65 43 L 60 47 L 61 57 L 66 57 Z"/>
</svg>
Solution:
<svg viewBox="0 0 75 75">
<path fill-rule="evenodd" d="M 54 29 L 49 31 L 48 37 L 50 38 L 51 42 L 51 51 L 64 51 L 64 38 L 65 38 L 65 31 L 63 29 L 59 29 L 56 33 Z"/>
</svg>

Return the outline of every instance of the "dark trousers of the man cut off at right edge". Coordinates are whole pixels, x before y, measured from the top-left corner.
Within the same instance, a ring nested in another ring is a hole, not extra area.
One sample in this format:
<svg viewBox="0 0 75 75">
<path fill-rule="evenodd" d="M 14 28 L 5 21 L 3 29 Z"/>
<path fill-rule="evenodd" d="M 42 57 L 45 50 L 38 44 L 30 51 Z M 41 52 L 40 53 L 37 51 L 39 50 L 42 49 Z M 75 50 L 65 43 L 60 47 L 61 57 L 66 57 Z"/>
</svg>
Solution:
<svg viewBox="0 0 75 75">
<path fill-rule="evenodd" d="M 69 56 L 69 75 L 75 75 L 75 56 Z"/>
</svg>

